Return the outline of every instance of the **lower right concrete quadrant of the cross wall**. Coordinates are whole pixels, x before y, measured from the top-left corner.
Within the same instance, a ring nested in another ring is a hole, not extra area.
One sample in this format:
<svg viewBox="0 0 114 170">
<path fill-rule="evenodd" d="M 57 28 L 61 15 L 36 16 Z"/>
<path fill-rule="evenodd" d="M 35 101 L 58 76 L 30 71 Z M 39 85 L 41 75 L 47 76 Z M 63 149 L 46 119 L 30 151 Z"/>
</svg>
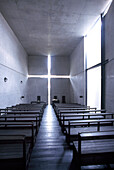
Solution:
<svg viewBox="0 0 114 170">
<path fill-rule="evenodd" d="M 66 102 L 69 103 L 70 95 L 70 80 L 69 79 L 51 79 L 51 101 L 54 96 L 57 96 L 60 103 L 62 102 L 62 96 L 65 96 Z"/>
</svg>

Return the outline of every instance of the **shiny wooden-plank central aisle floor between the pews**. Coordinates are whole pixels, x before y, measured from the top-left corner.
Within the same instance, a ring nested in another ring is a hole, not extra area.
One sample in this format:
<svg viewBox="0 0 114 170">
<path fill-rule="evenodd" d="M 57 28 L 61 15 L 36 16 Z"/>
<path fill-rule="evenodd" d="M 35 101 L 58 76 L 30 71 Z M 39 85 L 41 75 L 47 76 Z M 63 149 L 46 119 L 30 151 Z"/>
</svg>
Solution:
<svg viewBox="0 0 114 170">
<path fill-rule="evenodd" d="M 68 170 L 71 168 L 72 150 L 65 142 L 52 106 L 47 106 L 42 118 L 29 170 Z"/>
</svg>

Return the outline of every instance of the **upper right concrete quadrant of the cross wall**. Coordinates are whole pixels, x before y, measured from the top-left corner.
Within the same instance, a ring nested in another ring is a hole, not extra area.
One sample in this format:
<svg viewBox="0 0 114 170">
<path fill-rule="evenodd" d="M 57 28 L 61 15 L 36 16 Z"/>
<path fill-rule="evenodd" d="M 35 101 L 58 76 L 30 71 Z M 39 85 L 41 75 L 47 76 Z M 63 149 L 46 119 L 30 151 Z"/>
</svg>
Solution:
<svg viewBox="0 0 114 170">
<path fill-rule="evenodd" d="M 52 75 L 69 75 L 70 59 L 67 56 L 51 57 L 51 74 Z"/>
</svg>

